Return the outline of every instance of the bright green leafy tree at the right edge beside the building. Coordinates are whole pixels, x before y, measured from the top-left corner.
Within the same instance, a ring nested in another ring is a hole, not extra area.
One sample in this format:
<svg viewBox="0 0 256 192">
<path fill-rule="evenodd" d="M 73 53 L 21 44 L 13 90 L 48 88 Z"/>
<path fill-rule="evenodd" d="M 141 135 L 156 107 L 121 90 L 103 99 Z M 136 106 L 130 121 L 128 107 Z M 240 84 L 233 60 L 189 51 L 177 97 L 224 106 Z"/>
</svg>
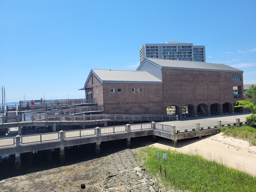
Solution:
<svg viewBox="0 0 256 192">
<path fill-rule="evenodd" d="M 256 88 L 256 87 L 255 87 Z M 253 89 L 253 84 L 248 89 L 250 99 L 238 100 L 235 107 L 250 108 L 251 115 L 246 117 L 246 121 L 249 126 L 256 127 L 256 89 Z"/>
</svg>

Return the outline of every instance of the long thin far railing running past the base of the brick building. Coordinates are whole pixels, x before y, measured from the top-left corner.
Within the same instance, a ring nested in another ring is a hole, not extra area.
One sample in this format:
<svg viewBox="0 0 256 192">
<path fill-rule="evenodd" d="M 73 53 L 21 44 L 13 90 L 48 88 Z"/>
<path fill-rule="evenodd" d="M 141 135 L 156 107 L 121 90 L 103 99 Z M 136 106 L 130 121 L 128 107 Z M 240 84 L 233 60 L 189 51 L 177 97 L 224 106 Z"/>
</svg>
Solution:
<svg viewBox="0 0 256 192">
<path fill-rule="evenodd" d="M 96 120 L 175 120 L 172 114 L 88 114 L 88 115 L 48 115 L 48 114 L 22 114 L 15 117 L 0 117 L 1 124 L 11 122 L 35 121 L 96 121 Z"/>
</svg>

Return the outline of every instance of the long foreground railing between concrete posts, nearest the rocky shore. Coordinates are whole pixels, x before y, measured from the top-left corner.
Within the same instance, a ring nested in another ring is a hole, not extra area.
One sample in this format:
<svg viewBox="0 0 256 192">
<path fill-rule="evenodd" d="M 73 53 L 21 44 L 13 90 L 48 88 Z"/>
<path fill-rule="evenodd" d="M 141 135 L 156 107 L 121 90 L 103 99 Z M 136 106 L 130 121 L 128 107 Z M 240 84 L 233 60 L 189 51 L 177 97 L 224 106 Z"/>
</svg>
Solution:
<svg viewBox="0 0 256 192">
<path fill-rule="evenodd" d="M 246 122 L 221 124 L 221 126 L 240 126 L 243 124 L 246 124 Z M 200 131 L 200 130 L 210 129 L 210 128 L 219 128 L 219 125 L 211 125 L 211 126 L 205 126 L 205 127 L 198 126 L 198 127 L 175 130 L 175 126 L 160 124 L 155 122 L 131 124 L 131 125 L 127 124 L 127 125 L 121 125 L 121 126 L 109 126 L 109 127 L 100 127 L 100 128 L 96 127 L 96 128 L 89 128 L 89 129 L 68 130 L 68 131 L 59 131 L 59 132 L 42 133 L 42 134 L 21 135 L 21 136 L 18 135 L 18 137 L 20 137 L 20 143 L 18 143 L 18 145 L 61 140 L 60 132 L 63 133 L 63 137 L 62 137 L 63 139 L 73 139 L 73 138 L 81 138 L 86 136 L 98 136 L 98 135 L 104 135 L 104 134 L 123 133 L 126 131 L 129 132 L 128 126 L 130 126 L 129 131 L 142 131 L 146 129 L 155 128 L 157 130 L 162 130 L 162 131 L 170 132 L 173 134 L 188 132 L 188 130 Z M 96 129 L 99 129 L 98 131 L 99 134 L 96 133 L 97 132 Z M 15 140 L 16 140 L 16 137 L 14 136 L 0 138 L 0 147 L 15 146 L 16 144 Z"/>
</svg>

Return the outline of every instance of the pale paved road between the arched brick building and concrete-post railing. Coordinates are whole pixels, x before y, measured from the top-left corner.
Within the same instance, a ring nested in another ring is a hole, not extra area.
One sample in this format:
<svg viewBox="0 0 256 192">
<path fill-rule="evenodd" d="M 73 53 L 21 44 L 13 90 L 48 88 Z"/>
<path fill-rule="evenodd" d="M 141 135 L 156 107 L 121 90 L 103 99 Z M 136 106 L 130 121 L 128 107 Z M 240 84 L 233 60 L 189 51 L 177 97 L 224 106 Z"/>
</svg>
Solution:
<svg viewBox="0 0 256 192">
<path fill-rule="evenodd" d="M 199 122 L 200 126 L 214 126 L 217 125 L 217 120 L 221 120 L 222 124 L 234 123 L 236 118 L 240 119 L 240 122 L 246 121 L 245 117 L 249 116 L 250 113 L 238 113 L 238 114 L 228 114 L 228 115 L 214 115 L 207 117 L 194 117 L 179 119 L 176 121 L 164 121 L 161 124 L 175 125 L 176 130 L 182 130 L 186 128 L 195 127 L 195 123 Z"/>
</svg>

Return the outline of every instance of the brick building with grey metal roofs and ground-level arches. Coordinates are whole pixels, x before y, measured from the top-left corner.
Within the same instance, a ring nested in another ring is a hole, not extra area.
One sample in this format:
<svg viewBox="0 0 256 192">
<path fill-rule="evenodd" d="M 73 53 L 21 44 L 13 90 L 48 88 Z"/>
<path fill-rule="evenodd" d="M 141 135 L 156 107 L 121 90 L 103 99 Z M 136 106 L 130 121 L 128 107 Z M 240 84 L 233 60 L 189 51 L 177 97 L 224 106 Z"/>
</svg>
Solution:
<svg viewBox="0 0 256 192">
<path fill-rule="evenodd" d="M 91 69 L 81 88 L 104 113 L 182 116 L 241 112 L 242 70 L 215 63 L 145 58 L 135 71 Z M 237 88 L 236 95 L 233 87 Z"/>
</svg>

